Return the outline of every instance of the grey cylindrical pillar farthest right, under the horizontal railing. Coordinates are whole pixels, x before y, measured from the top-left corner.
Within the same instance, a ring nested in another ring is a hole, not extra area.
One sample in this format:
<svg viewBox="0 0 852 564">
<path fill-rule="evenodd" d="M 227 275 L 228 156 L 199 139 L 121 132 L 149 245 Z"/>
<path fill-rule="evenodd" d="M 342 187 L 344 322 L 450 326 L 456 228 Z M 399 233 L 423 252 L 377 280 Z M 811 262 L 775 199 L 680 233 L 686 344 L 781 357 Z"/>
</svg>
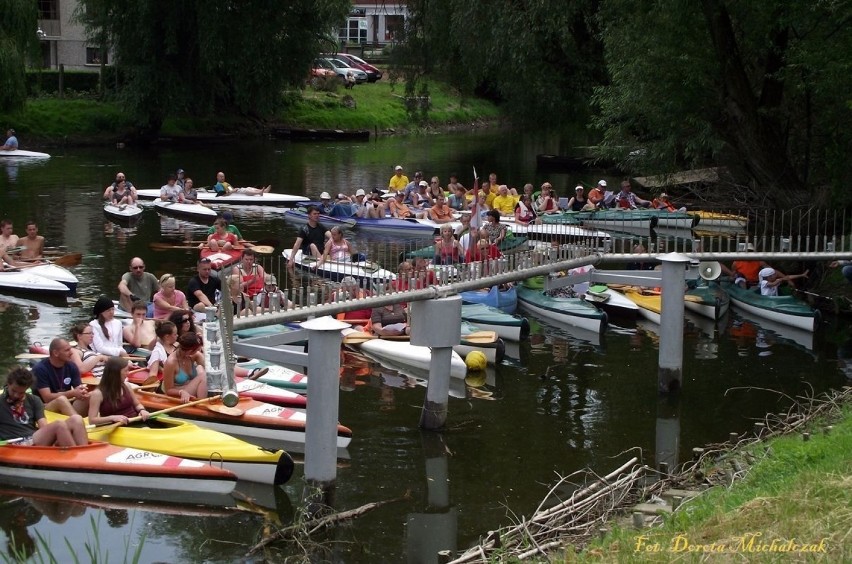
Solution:
<svg viewBox="0 0 852 564">
<path fill-rule="evenodd" d="M 668 253 L 663 263 L 658 385 L 661 393 L 676 392 L 683 381 L 683 296 L 689 257 Z"/>
</svg>

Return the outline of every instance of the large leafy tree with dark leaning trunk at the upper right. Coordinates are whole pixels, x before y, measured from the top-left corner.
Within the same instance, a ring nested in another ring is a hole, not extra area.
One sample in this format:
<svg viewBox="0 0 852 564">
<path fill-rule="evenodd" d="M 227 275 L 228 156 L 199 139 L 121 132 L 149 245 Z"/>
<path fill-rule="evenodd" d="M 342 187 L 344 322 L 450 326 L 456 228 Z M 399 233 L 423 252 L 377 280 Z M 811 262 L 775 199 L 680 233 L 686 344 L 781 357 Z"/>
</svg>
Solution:
<svg viewBox="0 0 852 564">
<path fill-rule="evenodd" d="M 850 178 L 850 17 L 843 0 L 603 3 L 604 146 L 642 147 L 625 164 L 649 173 L 726 164 L 751 201 L 827 203 Z"/>
</svg>

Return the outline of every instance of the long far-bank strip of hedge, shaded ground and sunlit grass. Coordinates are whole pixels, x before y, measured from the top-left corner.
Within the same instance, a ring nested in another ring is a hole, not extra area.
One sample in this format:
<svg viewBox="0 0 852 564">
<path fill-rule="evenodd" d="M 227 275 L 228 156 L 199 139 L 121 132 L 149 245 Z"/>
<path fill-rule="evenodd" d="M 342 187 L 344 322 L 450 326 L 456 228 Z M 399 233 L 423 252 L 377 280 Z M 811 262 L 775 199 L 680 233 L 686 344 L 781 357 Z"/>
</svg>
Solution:
<svg viewBox="0 0 852 564">
<path fill-rule="evenodd" d="M 498 124 L 502 112 L 492 102 L 463 96 L 445 83 L 429 81 L 428 95 L 406 97 L 405 86 L 386 79 L 344 90 L 337 81 L 318 83 L 283 94 L 274 118 L 239 115 L 199 118 L 172 115 L 156 139 L 139 138 L 132 116 L 115 101 L 98 101 L 88 94 L 65 98 L 37 97 L 17 112 L 0 113 L 0 123 L 13 127 L 26 148 L 90 146 L 113 143 L 186 143 L 267 136 L 280 128 L 369 130 L 395 135 L 457 127 Z"/>
</svg>

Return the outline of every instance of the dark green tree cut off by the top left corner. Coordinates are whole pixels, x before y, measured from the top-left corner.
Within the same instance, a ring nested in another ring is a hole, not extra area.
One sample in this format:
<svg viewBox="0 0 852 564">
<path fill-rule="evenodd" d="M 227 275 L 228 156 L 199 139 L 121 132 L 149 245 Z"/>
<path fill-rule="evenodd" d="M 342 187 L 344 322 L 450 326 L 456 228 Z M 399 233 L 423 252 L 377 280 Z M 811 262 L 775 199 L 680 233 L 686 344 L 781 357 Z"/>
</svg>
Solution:
<svg viewBox="0 0 852 564">
<path fill-rule="evenodd" d="M 23 107 L 26 63 L 34 53 L 38 12 L 32 0 L 0 2 L 0 111 Z"/>
</svg>

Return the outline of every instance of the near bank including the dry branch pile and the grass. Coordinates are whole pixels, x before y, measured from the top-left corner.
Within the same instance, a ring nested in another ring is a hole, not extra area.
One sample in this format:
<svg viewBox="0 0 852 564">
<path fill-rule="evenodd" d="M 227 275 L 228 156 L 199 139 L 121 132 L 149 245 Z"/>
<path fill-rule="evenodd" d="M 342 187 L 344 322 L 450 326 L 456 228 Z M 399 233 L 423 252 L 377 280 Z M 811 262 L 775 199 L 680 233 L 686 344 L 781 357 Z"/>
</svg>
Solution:
<svg viewBox="0 0 852 564">
<path fill-rule="evenodd" d="M 694 460 L 675 474 L 634 458 L 604 477 L 563 478 L 577 484 L 569 499 L 542 502 L 531 517 L 489 531 L 480 546 L 450 560 L 849 562 L 849 452 L 852 387 L 846 386 L 796 398 L 752 433 L 695 449 Z M 650 481 L 643 483 L 643 474 Z"/>
</svg>

